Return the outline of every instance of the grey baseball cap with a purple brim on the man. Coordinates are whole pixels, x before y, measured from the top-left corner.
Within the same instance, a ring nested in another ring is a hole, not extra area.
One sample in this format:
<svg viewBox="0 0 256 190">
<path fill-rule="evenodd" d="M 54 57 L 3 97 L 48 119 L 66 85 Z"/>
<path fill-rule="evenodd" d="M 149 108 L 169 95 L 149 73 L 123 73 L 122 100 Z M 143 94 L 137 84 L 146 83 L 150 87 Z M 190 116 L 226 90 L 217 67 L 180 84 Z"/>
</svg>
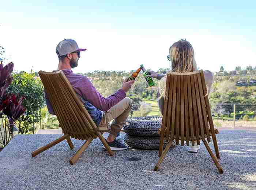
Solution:
<svg viewBox="0 0 256 190">
<path fill-rule="evenodd" d="M 85 51 L 86 49 L 79 49 L 75 40 L 62 40 L 56 47 L 56 53 L 59 56 L 70 54 L 74 51 Z"/>
</svg>

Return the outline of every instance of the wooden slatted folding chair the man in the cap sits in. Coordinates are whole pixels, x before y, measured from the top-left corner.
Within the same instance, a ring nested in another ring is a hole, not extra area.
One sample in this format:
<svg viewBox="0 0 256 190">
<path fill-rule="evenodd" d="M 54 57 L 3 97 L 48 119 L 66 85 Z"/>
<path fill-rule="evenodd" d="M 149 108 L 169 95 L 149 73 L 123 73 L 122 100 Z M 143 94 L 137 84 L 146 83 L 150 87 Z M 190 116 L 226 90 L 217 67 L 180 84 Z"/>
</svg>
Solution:
<svg viewBox="0 0 256 190">
<path fill-rule="evenodd" d="M 73 149 L 74 146 L 70 136 L 75 139 L 86 140 L 82 147 L 80 147 L 76 154 L 70 159 L 69 162 L 71 165 L 78 161 L 83 151 L 90 145 L 91 141 L 97 137 L 99 137 L 109 155 L 113 156 L 108 143 L 102 136 L 102 133 L 108 131 L 108 129 L 106 127 L 102 127 L 101 129 L 97 128 L 63 71 L 39 71 L 39 75 L 64 135 L 48 145 L 35 150 L 32 153 L 32 157 L 35 157 L 65 139 L 70 149 Z"/>
</svg>

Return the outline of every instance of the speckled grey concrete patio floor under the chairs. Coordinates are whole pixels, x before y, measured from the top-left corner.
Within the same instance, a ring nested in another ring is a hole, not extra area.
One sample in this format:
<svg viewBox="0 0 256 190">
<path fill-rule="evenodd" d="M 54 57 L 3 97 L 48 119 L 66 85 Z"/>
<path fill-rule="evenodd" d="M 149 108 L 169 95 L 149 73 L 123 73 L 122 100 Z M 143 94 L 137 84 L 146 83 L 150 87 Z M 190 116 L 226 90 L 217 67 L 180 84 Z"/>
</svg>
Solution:
<svg viewBox="0 0 256 190">
<path fill-rule="evenodd" d="M 0 189 L 256 189 L 256 130 L 220 130 L 223 174 L 203 143 L 198 153 L 188 153 L 185 146 L 170 149 L 159 171 L 154 171 L 157 150 L 128 149 L 110 157 L 99 139 L 76 165 L 69 159 L 82 140 L 72 139 L 73 150 L 63 141 L 31 157 L 32 151 L 60 136 L 16 135 L 0 152 Z M 214 151 L 212 142 L 210 147 Z"/>
</svg>

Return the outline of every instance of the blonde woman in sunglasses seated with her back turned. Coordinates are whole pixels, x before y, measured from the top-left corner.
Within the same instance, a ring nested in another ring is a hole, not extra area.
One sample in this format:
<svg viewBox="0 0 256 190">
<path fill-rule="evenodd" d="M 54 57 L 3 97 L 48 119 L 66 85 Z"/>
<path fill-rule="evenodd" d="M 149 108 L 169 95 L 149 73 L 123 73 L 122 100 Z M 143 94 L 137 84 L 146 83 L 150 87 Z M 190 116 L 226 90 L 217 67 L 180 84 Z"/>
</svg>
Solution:
<svg viewBox="0 0 256 190">
<path fill-rule="evenodd" d="M 171 62 L 170 71 L 172 72 L 193 72 L 197 71 L 195 55 L 192 45 L 185 39 L 179 40 L 175 42 L 169 49 L 169 56 L 167 59 Z M 158 106 L 163 115 L 163 95 L 166 84 L 166 75 L 158 74 L 157 72 L 150 71 L 150 75 L 152 78 L 156 78 L 161 80 L 159 83 L 159 88 L 157 92 L 158 98 Z M 210 71 L 204 71 L 204 78 L 206 81 L 206 86 L 208 90 L 208 94 L 210 92 L 210 88 L 213 82 L 213 75 Z M 189 146 L 188 152 L 197 153 L 200 149 L 200 146 Z"/>
</svg>

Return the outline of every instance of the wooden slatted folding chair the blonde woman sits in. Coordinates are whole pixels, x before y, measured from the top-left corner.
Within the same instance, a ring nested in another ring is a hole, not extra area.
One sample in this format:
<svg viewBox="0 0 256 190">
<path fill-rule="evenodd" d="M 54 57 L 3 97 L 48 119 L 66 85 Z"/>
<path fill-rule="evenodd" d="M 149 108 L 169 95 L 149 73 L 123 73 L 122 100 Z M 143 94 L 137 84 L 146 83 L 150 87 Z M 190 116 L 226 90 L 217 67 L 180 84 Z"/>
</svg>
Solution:
<svg viewBox="0 0 256 190">
<path fill-rule="evenodd" d="M 220 158 L 215 136 L 215 133 L 218 134 L 218 130 L 213 126 L 203 70 L 188 73 L 169 72 L 163 105 L 158 155 L 160 158 L 155 166 L 155 171 L 159 169 L 175 139 L 176 144 L 178 145 L 181 141 L 182 146 L 184 146 L 184 141 L 187 146 L 190 142 L 194 146 L 195 143 L 200 145 L 200 140 L 202 140 L 219 173 L 223 173 L 222 167 L 206 142 L 206 139 L 211 142 L 210 136 L 212 136 L 216 156 Z M 163 151 L 164 139 L 169 143 Z"/>
</svg>

